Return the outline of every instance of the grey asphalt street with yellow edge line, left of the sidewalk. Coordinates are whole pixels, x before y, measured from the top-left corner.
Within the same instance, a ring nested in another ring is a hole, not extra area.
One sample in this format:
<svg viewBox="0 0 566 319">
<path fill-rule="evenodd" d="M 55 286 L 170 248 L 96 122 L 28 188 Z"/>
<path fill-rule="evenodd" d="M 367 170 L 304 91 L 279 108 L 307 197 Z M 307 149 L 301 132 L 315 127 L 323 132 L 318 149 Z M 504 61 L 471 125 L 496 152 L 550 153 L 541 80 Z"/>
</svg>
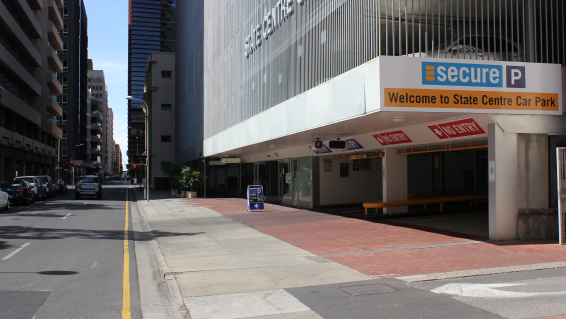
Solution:
<svg viewBox="0 0 566 319">
<path fill-rule="evenodd" d="M 125 237 L 128 193 L 116 184 L 105 183 L 101 200 L 75 200 L 70 189 L 0 212 L 0 319 L 122 318 L 128 310 L 141 318 L 131 232 Z"/>
</svg>

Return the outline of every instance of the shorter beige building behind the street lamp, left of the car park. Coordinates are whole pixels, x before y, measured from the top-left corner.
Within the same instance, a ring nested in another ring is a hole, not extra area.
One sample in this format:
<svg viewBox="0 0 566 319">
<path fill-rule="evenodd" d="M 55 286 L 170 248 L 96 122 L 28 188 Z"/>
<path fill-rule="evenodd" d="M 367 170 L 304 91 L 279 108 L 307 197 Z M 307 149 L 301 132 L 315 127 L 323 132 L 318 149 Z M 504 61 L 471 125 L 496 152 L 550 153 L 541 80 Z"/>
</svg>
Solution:
<svg viewBox="0 0 566 319">
<path fill-rule="evenodd" d="M 150 185 L 168 189 L 163 169 L 175 162 L 175 53 L 152 53 L 145 76 Z"/>
</svg>

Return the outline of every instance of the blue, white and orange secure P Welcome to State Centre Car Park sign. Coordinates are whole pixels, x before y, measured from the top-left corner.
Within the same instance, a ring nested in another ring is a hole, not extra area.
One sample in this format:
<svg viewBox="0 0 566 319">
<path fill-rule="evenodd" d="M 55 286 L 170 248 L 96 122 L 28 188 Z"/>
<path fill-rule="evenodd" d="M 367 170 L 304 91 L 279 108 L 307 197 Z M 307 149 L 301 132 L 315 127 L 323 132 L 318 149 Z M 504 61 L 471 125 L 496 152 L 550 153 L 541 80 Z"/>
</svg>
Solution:
<svg viewBox="0 0 566 319">
<path fill-rule="evenodd" d="M 379 59 L 382 110 L 562 114 L 558 64 Z"/>
</svg>

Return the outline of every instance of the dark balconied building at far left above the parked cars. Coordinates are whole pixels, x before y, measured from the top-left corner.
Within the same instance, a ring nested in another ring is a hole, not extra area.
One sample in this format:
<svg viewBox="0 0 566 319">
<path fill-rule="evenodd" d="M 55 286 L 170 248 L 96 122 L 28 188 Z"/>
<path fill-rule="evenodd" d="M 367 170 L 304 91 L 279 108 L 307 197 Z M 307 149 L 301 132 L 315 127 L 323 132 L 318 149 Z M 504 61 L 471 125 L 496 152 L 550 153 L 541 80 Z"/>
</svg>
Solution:
<svg viewBox="0 0 566 319">
<path fill-rule="evenodd" d="M 60 0 L 0 1 L 0 180 L 58 177 L 60 7 Z"/>
</svg>

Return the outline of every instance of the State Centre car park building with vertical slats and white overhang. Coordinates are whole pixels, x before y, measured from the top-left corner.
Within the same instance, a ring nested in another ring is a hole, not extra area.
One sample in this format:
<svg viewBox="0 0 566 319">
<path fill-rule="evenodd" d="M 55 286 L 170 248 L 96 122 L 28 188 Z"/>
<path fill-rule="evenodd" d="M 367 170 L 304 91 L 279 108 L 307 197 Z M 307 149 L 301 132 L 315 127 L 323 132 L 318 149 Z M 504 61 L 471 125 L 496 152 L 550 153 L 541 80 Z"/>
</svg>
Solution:
<svg viewBox="0 0 566 319">
<path fill-rule="evenodd" d="M 299 207 L 471 194 L 482 236 L 552 237 L 566 6 L 541 3 L 180 1 L 177 161 Z"/>
</svg>

